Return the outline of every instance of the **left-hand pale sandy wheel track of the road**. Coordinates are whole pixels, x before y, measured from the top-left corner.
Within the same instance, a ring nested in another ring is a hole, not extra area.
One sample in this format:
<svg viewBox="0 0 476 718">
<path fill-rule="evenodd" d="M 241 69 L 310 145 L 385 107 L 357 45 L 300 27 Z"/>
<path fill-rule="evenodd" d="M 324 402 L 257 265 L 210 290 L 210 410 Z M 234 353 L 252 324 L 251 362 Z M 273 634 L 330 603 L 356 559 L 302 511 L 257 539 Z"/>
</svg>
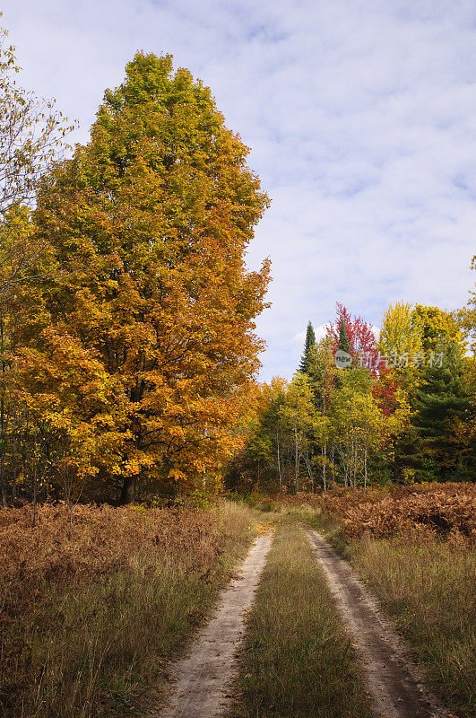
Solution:
<svg viewBox="0 0 476 718">
<path fill-rule="evenodd" d="M 270 534 L 255 539 L 237 578 L 221 592 L 208 625 L 186 658 L 177 661 L 169 704 L 149 718 L 214 718 L 223 713 L 238 671 L 234 659 L 244 635 L 246 614 L 272 540 Z"/>
</svg>

